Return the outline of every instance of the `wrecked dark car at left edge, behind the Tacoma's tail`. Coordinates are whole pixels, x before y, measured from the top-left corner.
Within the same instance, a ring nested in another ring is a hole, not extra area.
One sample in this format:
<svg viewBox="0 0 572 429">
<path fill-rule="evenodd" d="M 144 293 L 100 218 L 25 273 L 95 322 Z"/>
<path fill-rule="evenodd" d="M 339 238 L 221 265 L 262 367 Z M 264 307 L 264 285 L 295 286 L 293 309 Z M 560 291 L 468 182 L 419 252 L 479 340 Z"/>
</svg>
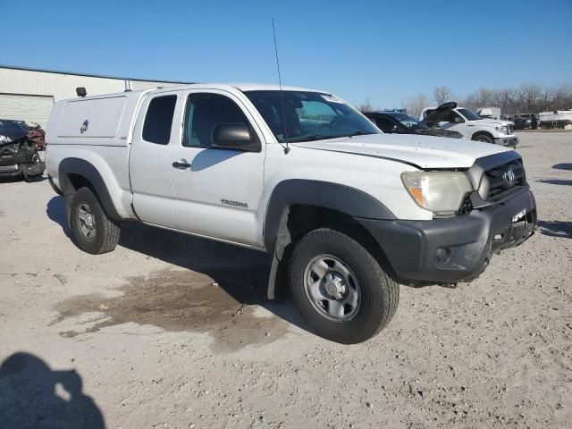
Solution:
<svg viewBox="0 0 572 429">
<path fill-rule="evenodd" d="M 0 121 L 0 177 L 21 176 L 26 181 L 41 176 L 46 164 L 28 131 Z"/>
</svg>

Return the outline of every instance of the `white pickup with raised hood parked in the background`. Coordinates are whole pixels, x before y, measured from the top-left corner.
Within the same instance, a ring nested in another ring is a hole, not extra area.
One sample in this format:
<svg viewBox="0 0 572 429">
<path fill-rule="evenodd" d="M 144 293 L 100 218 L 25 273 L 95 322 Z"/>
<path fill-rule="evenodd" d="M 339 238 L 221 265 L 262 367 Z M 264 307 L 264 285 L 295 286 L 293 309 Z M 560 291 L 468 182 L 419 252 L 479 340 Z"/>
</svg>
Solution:
<svg viewBox="0 0 572 429">
<path fill-rule="evenodd" d="M 469 109 L 457 106 L 448 114 L 438 114 L 433 116 L 431 121 L 427 120 L 427 116 L 436 109 L 437 107 L 426 107 L 419 114 L 419 120 L 425 119 L 425 124 L 428 126 L 458 131 L 467 139 L 517 147 L 518 138 L 513 132 L 514 122 L 481 119 L 478 114 Z"/>
</svg>

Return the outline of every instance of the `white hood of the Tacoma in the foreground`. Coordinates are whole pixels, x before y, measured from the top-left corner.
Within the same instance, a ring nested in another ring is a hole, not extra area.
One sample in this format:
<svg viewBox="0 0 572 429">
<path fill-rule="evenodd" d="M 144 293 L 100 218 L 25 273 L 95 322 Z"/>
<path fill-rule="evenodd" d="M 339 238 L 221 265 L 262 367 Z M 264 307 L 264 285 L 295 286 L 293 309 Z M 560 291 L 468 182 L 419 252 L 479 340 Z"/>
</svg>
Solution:
<svg viewBox="0 0 572 429">
<path fill-rule="evenodd" d="M 356 156 L 374 156 L 419 169 L 469 168 L 477 158 L 509 149 L 473 140 L 415 134 L 371 134 L 352 138 L 291 143 L 295 147 L 328 150 Z"/>
</svg>

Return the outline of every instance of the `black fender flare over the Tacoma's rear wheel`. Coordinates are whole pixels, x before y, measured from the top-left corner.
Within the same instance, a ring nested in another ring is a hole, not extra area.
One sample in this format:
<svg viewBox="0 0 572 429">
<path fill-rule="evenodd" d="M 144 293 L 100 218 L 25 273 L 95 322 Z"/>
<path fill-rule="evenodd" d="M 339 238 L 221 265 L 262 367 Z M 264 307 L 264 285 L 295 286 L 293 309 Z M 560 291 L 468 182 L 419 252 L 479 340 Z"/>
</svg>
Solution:
<svg viewBox="0 0 572 429">
<path fill-rule="evenodd" d="M 101 205 L 104 206 L 105 213 L 114 219 L 114 221 L 121 222 L 123 220 L 122 216 L 117 212 L 114 201 L 111 199 L 107 186 L 105 185 L 105 181 L 97 171 L 97 168 L 81 158 L 64 158 L 58 166 L 60 188 L 62 189 L 68 211 L 70 210 L 71 197 L 75 191 L 71 185 L 69 174 L 78 174 L 79 176 L 85 177 L 96 191 L 97 198 L 99 198 Z M 68 216 L 68 220 L 69 218 L 70 216 Z"/>
</svg>

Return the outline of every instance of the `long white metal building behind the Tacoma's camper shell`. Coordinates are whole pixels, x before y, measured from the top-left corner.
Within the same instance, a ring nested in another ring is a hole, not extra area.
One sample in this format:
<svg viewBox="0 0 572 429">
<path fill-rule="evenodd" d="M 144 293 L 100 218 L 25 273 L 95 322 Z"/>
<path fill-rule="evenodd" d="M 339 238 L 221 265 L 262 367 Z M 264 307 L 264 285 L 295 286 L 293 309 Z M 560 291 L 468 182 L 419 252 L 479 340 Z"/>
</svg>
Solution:
<svg viewBox="0 0 572 429">
<path fill-rule="evenodd" d="M 161 88 L 181 83 L 189 82 L 117 78 L 0 65 L 0 119 L 37 122 L 46 127 L 52 105 L 59 100 L 77 97 L 75 88 L 78 87 L 85 87 L 88 96 L 97 96 L 125 89 Z"/>
</svg>

